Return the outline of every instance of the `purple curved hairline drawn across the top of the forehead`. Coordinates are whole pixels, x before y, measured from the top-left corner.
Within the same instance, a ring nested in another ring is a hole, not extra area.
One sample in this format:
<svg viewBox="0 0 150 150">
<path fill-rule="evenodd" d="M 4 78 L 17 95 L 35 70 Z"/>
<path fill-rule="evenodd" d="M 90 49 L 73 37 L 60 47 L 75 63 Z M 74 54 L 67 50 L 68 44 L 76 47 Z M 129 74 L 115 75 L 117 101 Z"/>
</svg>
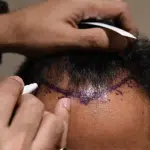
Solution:
<svg viewBox="0 0 150 150">
<path fill-rule="evenodd" d="M 43 80 L 44 85 L 46 85 L 49 89 L 54 90 L 55 92 L 61 93 L 63 95 L 65 95 L 66 97 L 75 97 L 75 98 L 79 98 L 80 102 L 87 105 L 90 100 L 94 100 L 96 98 L 101 98 L 104 96 L 104 94 L 110 93 L 114 90 L 116 90 L 117 88 L 121 87 L 121 85 L 125 84 L 127 81 L 133 79 L 133 77 L 126 77 L 123 80 L 121 80 L 119 83 L 117 83 L 116 85 L 110 87 L 110 88 L 106 88 L 105 90 L 101 91 L 100 93 L 98 92 L 94 92 L 92 94 L 92 96 L 87 96 L 86 93 L 84 93 L 83 91 L 81 92 L 74 92 L 74 91 L 69 91 L 69 90 L 64 90 L 61 89 L 53 84 L 50 84 L 47 80 Z M 122 94 L 121 94 L 122 95 Z"/>
</svg>

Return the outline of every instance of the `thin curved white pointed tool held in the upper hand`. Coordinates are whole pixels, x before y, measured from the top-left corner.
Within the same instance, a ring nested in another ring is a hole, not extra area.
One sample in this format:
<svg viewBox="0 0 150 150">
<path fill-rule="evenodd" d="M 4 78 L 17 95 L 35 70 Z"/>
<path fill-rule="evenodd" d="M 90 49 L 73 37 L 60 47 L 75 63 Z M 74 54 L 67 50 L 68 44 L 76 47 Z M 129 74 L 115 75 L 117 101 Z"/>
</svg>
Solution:
<svg viewBox="0 0 150 150">
<path fill-rule="evenodd" d="M 117 28 L 117 27 L 114 27 L 114 26 L 111 26 L 111 25 L 108 25 L 108 24 L 105 24 L 105 23 L 99 23 L 99 22 L 82 22 L 82 24 L 88 24 L 88 25 L 93 25 L 93 26 L 99 26 L 99 27 L 102 27 L 102 28 L 106 28 L 106 29 L 109 29 L 109 30 L 112 30 L 114 32 L 117 32 L 118 34 L 122 35 L 122 36 L 125 36 L 125 37 L 128 37 L 128 38 L 132 38 L 132 39 L 137 39 L 134 35 L 132 35 L 131 33 L 125 31 L 125 30 L 122 30 L 120 28 Z"/>
</svg>

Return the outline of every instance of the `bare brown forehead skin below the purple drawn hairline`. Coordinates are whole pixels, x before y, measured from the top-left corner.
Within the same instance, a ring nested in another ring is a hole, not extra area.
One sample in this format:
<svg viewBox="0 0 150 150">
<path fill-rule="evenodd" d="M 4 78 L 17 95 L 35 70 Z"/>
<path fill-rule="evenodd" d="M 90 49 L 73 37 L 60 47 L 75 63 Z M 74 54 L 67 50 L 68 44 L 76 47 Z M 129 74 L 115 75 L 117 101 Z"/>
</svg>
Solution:
<svg viewBox="0 0 150 150">
<path fill-rule="evenodd" d="M 59 88 L 67 89 L 67 81 L 64 81 L 59 83 Z M 115 83 L 120 81 L 121 78 L 116 79 Z M 51 112 L 62 96 L 64 95 L 50 90 L 45 85 L 41 85 L 37 92 L 37 97 L 42 100 L 46 110 Z M 88 105 L 81 104 L 78 98 L 71 97 L 67 148 L 149 150 L 149 100 L 147 93 L 134 80 L 129 80 L 99 100 L 92 100 Z"/>
</svg>

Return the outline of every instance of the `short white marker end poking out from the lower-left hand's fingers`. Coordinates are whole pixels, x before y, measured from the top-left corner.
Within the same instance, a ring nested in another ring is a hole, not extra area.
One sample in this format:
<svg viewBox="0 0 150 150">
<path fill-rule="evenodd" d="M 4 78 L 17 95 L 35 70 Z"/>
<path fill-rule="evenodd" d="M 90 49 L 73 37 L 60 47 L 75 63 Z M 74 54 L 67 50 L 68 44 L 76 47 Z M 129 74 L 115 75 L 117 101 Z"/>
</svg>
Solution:
<svg viewBox="0 0 150 150">
<path fill-rule="evenodd" d="M 37 84 L 37 83 L 32 83 L 32 84 L 26 85 L 26 86 L 24 86 L 22 95 L 23 95 L 23 94 L 32 93 L 32 92 L 35 91 L 37 88 L 38 88 L 38 84 Z"/>
</svg>

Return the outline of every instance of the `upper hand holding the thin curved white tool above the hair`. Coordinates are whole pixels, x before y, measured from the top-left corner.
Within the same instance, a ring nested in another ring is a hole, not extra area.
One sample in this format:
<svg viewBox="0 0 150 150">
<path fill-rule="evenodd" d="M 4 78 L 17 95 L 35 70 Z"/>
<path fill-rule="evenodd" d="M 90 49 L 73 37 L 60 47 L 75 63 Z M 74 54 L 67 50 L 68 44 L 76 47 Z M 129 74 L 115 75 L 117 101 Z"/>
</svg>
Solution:
<svg viewBox="0 0 150 150">
<path fill-rule="evenodd" d="M 121 0 L 49 0 L 13 15 L 19 43 L 43 48 L 40 55 L 59 47 L 123 49 L 127 44 L 126 38 L 102 28 L 78 29 L 78 23 L 87 18 L 113 18 L 124 30 L 136 32 L 127 4 Z"/>
</svg>

